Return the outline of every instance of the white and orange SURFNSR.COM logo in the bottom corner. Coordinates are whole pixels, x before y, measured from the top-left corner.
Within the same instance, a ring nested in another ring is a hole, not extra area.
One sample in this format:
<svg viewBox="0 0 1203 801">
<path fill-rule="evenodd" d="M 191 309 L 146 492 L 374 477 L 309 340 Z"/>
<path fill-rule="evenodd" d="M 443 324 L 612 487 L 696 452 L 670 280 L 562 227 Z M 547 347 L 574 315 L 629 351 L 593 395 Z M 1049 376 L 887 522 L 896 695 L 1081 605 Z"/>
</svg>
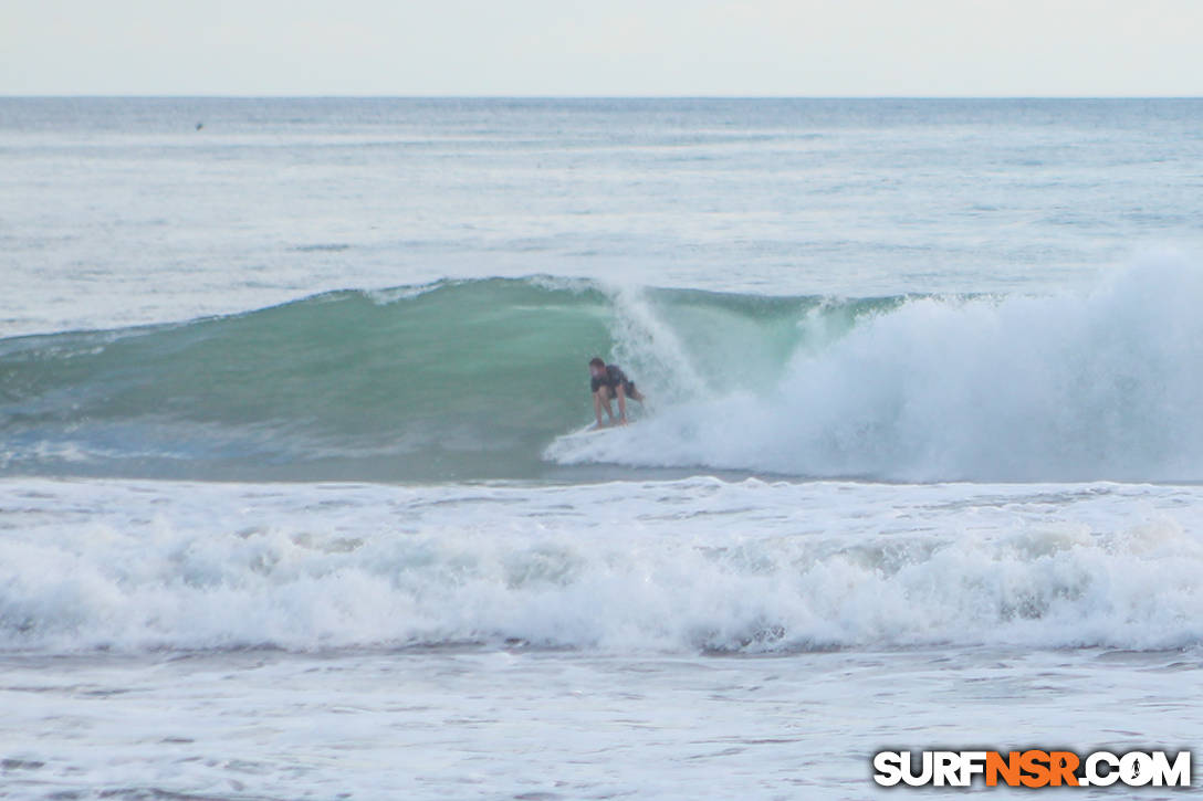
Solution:
<svg viewBox="0 0 1203 801">
<path fill-rule="evenodd" d="M 1191 752 L 1169 756 L 1165 750 L 1113 754 L 1096 750 L 1079 756 L 1072 750 L 925 750 L 918 759 L 908 750 L 873 755 L 873 781 L 882 787 L 1190 787 Z"/>
</svg>

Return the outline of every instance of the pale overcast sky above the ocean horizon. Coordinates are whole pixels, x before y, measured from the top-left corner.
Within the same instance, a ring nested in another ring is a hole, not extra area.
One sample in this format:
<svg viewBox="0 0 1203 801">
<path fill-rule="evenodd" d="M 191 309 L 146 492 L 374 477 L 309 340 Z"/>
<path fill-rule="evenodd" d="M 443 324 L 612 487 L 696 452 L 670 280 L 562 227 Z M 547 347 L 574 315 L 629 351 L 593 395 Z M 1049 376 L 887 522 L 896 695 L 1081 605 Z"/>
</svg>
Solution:
<svg viewBox="0 0 1203 801">
<path fill-rule="evenodd" d="M 0 95 L 1199 96 L 1203 0 L 0 0 Z"/>
</svg>

